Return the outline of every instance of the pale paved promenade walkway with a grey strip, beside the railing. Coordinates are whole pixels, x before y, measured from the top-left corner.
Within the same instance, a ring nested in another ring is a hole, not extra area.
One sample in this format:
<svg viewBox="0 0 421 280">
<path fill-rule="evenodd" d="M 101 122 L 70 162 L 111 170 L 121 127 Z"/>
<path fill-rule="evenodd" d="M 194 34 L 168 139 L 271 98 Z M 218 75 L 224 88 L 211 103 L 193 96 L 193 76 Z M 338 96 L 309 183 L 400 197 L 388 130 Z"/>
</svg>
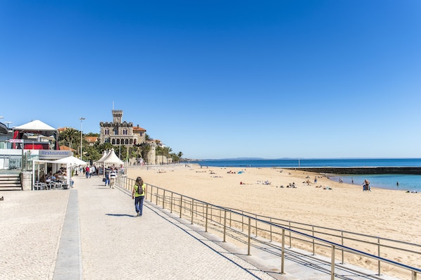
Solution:
<svg viewBox="0 0 421 280">
<path fill-rule="evenodd" d="M 303 264 L 246 256 L 131 194 L 75 177 L 71 190 L 0 191 L 0 279 L 330 279 Z M 236 252 L 236 253 L 232 253 Z"/>
</svg>

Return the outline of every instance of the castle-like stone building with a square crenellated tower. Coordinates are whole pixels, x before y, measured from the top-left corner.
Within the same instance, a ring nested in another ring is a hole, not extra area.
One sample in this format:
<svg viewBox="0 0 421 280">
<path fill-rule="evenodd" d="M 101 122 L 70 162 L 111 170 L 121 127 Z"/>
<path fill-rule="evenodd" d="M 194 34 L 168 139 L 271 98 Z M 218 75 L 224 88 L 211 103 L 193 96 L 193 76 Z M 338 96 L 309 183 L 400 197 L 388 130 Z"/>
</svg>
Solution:
<svg viewBox="0 0 421 280">
<path fill-rule="evenodd" d="M 112 110 L 113 122 L 99 122 L 99 141 L 114 146 L 133 146 L 146 142 L 146 129 L 133 126 L 133 122 L 122 122 L 122 110 Z"/>
</svg>

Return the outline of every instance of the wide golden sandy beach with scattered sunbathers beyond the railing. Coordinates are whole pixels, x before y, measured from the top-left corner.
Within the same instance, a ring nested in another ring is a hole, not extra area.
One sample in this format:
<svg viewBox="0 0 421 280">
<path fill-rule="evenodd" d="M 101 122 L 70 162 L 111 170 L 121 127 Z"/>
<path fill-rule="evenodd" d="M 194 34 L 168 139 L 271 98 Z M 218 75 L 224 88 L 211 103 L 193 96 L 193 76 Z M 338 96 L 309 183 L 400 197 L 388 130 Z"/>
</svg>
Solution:
<svg viewBox="0 0 421 280">
<path fill-rule="evenodd" d="M 243 173 L 239 174 L 239 171 Z M 322 174 L 275 168 L 201 168 L 191 165 L 187 168 L 161 167 L 158 172 L 156 169 L 134 167 L 127 168 L 127 175 L 132 179 L 141 176 L 147 184 L 214 205 L 291 222 L 421 244 L 421 193 L 375 187 L 371 188 L 372 191 L 363 191 L 360 184 L 333 182 Z M 318 177 L 317 184 L 315 177 Z M 270 184 L 264 184 L 265 181 Z M 296 188 L 287 188 L 293 182 Z M 331 189 L 323 189 L 326 186 Z M 358 250 L 377 254 L 377 249 L 370 246 Z M 390 255 L 387 250 L 384 253 L 386 255 L 383 257 L 388 259 L 421 267 L 420 255 Z M 364 263 L 370 269 L 377 270 L 377 262 L 371 263 L 372 260 L 365 257 L 353 256 L 346 262 L 356 265 Z M 387 264 L 382 265 L 384 273 L 403 279 L 408 276 L 394 270 Z"/>
</svg>

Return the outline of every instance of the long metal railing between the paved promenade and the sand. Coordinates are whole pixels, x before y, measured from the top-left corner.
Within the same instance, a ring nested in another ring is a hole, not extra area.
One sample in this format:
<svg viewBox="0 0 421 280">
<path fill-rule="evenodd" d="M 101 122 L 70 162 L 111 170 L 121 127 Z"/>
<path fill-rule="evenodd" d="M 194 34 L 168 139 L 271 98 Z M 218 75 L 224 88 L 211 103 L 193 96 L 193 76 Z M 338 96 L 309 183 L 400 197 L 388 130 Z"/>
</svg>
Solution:
<svg viewBox="0 0 421 280">
<path fill-rule="evenodd" d="M 134 179 L 122 176 L 117 178 L 116 184 L 132 191 L 134 182 Z M 347 260 L 357 256 L 377 262 L 377 275 L 382 273 L 382 264 L 391 265 L 395 270 L 402 269 L 403 274 L 408 274 L 408 279 L 411 277 L 415 280 L 417 274 L 421 273 L 420 268 L 382 257 L 392 255 L 391 253 L 411 254 L 413 258 L 421 260 L 419 244 L 256 215 L 206 203 L 151 184 L 146 184 L 145 193 L 146 200 L 170 210 L 171 213 L 178 213 L 180 218 L 189 220 L 191 224 L 203 226 L 206 232 L 211 231 L 221 236 L 224 242 L 246 246 L 247 255 L 251 255 L 251 247 L 270 247 L 271 252 L 281 258 L 282 274 L 288 248 L 299 248 L 311 255 L 329 257 L 331 279 L 334 279 L 335 267 L 344 265 L 345 256 L 348 257 Z M 286 246 L 288 248 L 285 248 Z M 367 246 L 367 251 L 356 249 Z M 353 265 L 370 268 L 365 266 L 365 262 L 356 262 Z"/>
</svg>

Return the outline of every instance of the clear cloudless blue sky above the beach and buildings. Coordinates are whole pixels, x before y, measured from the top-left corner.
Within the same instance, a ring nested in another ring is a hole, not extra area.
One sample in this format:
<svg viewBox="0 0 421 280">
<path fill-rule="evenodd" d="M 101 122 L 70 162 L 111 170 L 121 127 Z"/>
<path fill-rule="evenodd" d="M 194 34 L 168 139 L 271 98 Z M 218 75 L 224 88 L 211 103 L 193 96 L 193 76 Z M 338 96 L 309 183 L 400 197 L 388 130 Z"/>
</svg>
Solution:
<svg viewBox="0 0 421 280">
<path fill-rule="evenodd" d="M 187 158 L 421 158 L 421 2 L 0 1 L 0 121 Z M 113 107 L 114 106 L 114 107 Z"/>
</svg>

